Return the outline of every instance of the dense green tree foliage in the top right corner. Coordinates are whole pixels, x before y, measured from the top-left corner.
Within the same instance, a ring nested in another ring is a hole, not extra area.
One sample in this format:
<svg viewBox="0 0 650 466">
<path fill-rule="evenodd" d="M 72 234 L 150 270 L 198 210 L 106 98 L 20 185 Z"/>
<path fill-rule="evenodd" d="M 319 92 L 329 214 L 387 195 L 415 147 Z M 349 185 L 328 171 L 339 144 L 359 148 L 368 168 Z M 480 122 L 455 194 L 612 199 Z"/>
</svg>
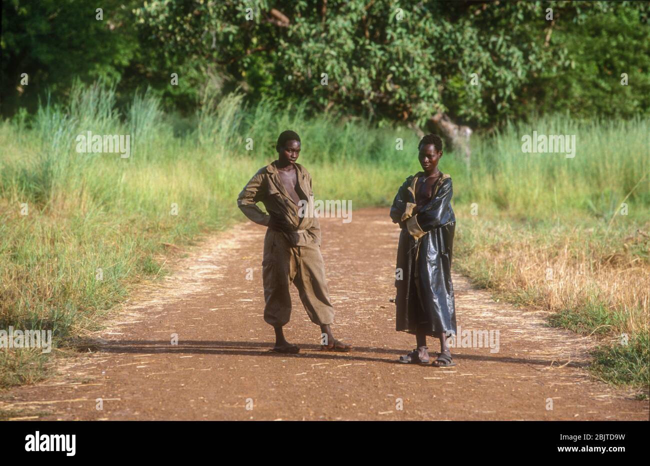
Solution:
<svg viewBox="0 0 650 466">
<path fill-rule="evenodd" d="M 603 14 L 580 12 L 556 26 L 553 39 L 569 51 L 560 73 L 532 83 L 538 112 L 569 110 L 579 118 L 629 118 L 650 109 L 650 26 L 647 4 L 605 5 Z M 628 85 L 621 84 L 626 73 Z"/>
</svg>

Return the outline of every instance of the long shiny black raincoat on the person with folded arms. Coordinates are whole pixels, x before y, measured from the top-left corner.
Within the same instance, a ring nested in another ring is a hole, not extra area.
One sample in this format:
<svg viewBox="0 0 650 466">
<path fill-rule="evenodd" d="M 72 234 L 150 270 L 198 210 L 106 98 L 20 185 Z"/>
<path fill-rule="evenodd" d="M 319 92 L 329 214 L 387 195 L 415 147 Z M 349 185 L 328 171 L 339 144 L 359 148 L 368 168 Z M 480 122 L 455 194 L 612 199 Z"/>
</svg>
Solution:
<svg viewBox="0 0 650 466">
<path fill-rule="evenodd" d="M 402 227 L 395 277 L 396 330 L 415 333 L 418 326 L 424 326 L 430 336 L 455 335 L 451 257 L 456 217 L 451 208 L 451 177 L 443 174 L 428 205 L 412 215 L 415 183 L 421 176 L 423 172 L 404 181 L 391 207 L 393 223 Z"/>
</svg>

